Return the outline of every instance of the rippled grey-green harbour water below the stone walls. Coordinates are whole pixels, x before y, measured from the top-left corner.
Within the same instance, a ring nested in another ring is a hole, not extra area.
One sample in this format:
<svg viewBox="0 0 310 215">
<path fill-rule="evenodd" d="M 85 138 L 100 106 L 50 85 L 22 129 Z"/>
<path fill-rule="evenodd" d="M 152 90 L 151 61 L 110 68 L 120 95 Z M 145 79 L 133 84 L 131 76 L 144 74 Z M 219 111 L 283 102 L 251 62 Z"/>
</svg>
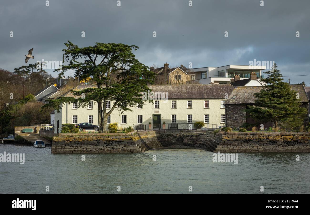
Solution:
<svg viewBox="0 0 310 215">
<path fill-rule="evenodd" d="M 117 186 L 122 193 L 310 192 L 310 153 L 239 153 L 234 165 L 199 149 L 85 154 L 85 161 L 50 147 L 2 144 L 4 151 L 24 153 L 25 164 L 0 162 L 0 193 L 46 193 L 46 186 L 50 193 L 117 193 Z"/>
</svg>

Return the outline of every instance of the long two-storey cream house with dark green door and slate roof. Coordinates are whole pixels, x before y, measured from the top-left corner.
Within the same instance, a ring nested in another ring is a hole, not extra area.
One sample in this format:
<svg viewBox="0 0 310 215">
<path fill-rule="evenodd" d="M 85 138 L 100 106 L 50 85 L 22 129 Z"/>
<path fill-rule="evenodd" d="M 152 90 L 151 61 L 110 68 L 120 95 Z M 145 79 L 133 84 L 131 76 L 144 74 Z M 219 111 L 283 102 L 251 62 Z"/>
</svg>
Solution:
<svg viewBox="0 0 310 215">
<path fill-rule="evenodd" d="M 95 85 L 79 85 L 73 90 L 81 90 Z M 150 85 L 150 89 L 157 96 L 153 103 L 145 101 L 143 105 L 131 107 L 132 111 L 123 113 L 113 110 L 108 118 L 107 127 L 110 123 L 118 123 L 122 127 L 133 127 L 134 125 L 149 122 L 162 126 L 166 124 L 184 123 L 194 124 L 202 121 L 206 124 L 225 125 L 224 102 L 234 89 L 230 84 L 225 85 Z M 65 97 L 74 97 L 71 91 L 65 93 Z M 76 97 L 77 98 L 77 97 Z M 113 106 L 114 101 L 109 101 L 106 108 Z M 55 133 L 61 131 L 61 124 L 79 124 L 83 122 L 98 124 L 97 103 L 90 101 L 88 107 L 79 107 L 77 103 L 66 103 L 55 111 Z M 194 127 L 193 127 L 194 128 Z"/>
</svg>

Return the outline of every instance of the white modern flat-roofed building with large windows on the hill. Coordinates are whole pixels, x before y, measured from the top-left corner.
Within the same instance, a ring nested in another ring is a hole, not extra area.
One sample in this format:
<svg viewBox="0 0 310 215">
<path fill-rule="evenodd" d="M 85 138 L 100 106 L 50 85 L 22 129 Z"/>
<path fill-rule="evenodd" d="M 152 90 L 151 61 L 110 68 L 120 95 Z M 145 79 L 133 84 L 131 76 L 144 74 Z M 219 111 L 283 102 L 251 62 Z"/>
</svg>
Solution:
<svg viewBox="0 0 310 215">
<path fill-rule="evenodd" d="M 262 75 L 262 70 L 266 70 L 266 66 L 249 66 L 249 65 L 226 65 L 221 67 L 201 67 L 187 69 L 188 74 L 196 74 L 196 82 L 200 84 L 229 84 L 232 78 L 240 77 L 247 79 L 255 73 L 258 80 Z"/>
</svg>

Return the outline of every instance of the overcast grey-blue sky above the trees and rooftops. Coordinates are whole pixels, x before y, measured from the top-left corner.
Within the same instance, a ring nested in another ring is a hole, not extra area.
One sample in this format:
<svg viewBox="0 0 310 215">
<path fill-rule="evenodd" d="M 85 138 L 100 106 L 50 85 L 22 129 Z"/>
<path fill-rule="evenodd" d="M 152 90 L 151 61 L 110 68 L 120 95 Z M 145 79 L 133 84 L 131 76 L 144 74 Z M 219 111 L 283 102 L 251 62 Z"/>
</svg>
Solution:
<svg viewBox="0 0 310 215">
<path fill-rule="evenodd" d="M 30 48 L 35 58 L 28 64 L 62 61 L 68 40 L 79 47 L 123 43 L 137 45 L 134 54 L 147 66 L 167 62 L 170 67 L 192 63 L 199 68 L 275 61 L 283 76 L 290 76 L 284 81 L 290 78 L 291 84 L 304 81 L 310 86 L 309 0 L 264 0 L 263 6 L 261 0 L 192 0 L 192 6 L 188 0 L 120 0 L 120 6 L 117 0 L 48 4 L 1 0 L 0 68 L 13 71 L 26 65 L 24 55 Z"/>
</svg>

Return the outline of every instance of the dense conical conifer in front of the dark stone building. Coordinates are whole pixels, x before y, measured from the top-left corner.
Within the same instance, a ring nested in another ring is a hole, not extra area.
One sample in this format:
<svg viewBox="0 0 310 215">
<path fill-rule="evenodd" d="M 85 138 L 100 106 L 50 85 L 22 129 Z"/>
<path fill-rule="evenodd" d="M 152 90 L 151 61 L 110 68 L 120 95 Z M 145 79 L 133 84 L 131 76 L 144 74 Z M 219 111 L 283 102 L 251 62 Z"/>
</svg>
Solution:
<svg viewBox="0 0 310 215">
<path fill-rule="evenodd" d="M 290 85 L 283 82 L 280 70 L 274 64 L 274 70 L 264 72 L 266 78 L 261 79 L 266 85 L 255 93 L 254 106 L 248 105 L 246 112 L 255 120 L 272 122 L 275 127 L 296 128 L 303 124 L 306 108 L 300 107 L 299 96 Z"/>
</svg>

